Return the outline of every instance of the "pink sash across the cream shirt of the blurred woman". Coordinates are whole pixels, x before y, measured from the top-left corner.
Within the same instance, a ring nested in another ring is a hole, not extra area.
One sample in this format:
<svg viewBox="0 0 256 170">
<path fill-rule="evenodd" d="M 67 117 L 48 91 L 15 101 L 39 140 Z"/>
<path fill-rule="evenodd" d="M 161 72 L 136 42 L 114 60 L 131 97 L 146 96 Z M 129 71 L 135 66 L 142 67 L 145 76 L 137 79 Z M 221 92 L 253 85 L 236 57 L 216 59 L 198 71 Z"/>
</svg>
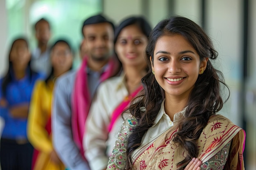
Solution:
<svg viewBox="0 0 256 170">
<path fill-rule="evenodd" d="M 115 124 L 115 121 L 117 118 L 123 113 L 123 111 L 127 108 L 127 106 L 130 104 L 131 100 L 143 89 L 143 86 L 139 86 L 131 95 L 125 97 L 123 102 L 121 102 L 117 108 L 112 113 L 111 121 L 108 126 L 108 132 L 110 132 Z"/>
</svg>

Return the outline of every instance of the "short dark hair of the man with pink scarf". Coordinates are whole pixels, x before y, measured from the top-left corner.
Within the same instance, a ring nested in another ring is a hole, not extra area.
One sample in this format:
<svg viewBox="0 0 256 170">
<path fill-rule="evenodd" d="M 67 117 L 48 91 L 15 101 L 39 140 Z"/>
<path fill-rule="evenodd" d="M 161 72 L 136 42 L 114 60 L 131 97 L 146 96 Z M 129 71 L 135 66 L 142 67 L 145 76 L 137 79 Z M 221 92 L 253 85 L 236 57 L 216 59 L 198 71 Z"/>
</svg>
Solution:
<svg viewBox="0 0 256 170">
<path fill-rule="evenodd" d="M 93 15 L 93 16 L 87 18 L 83 22 L 82 35 L 83 35 L 83 27 L 84 26 L 90 25 L 90 24 L 99 24 L 99 23 L 103 23 L 103 22 L 109 23 L 112 26 L 113 31 L 115 31 L 115 25 L 110 20 L 107 20 L 103 15 L 98 14 L 98 15 Z"/>
</svg>

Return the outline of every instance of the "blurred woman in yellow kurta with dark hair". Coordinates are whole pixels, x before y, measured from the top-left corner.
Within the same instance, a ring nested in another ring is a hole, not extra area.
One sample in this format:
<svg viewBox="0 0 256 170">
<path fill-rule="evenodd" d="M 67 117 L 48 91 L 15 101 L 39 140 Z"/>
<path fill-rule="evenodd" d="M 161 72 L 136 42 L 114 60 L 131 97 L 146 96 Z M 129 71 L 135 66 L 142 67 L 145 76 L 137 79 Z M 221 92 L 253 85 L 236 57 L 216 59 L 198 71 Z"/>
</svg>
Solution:
<svg viewBox="0 0 256 170">
<path fill-rule="evenodd" d="M 45 81 L 38 81 L 32 94 L 27 135 L 35 148 L 34 170 L 65 170 L 52 146 L 51 103 L 54 81 L 72 68 L 72 50 L 65 40 L 58 40 L 51 48 L 52 71 Z"/>
</svg>

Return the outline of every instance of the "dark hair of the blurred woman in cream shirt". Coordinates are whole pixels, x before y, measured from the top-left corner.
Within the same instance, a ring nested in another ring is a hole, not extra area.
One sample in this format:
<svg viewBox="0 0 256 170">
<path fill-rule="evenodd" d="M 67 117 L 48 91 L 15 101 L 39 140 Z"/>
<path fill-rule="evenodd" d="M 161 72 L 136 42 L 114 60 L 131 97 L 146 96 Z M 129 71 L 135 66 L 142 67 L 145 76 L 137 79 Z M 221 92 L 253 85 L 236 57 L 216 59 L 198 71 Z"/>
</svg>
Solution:
<svg viewBox="0 0 256 170">
<path fill-rule="evenodd" d="M 117 42 L 118 35 L 122 31 L 122 29 L 124 29 L 124 27 L 132 25 L 132 24 L 136 24 L 139 27 L 139 29 L 141 29 L 141 32 L 144 33 L 144 35 L 146 35 L 147 38 L 149 37 L 149 34 L 152 30 L 150 24 L 145 20 L 145 18 L 143 18 L 141 16 L 132 16 L 132 17 L 124 19 L 119 24 L 119 26 L 117 26 L 117 28 L 115 30 L 114 44 Z"/>
</svg>

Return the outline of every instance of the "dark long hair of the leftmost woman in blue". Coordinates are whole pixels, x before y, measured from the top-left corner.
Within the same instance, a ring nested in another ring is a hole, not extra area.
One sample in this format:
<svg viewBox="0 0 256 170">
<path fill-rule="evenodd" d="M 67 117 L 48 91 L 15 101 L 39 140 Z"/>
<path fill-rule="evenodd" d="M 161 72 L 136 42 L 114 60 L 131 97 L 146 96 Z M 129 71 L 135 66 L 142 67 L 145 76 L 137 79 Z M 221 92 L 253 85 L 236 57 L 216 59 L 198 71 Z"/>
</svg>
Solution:
<svg viewBox="0 0 256 170">
<path fill-rule="evenodd" d="M 8 84 L 11 81 L 13 81 L 13 76 L 11 75 L 11 72 L 13 71 L 13 65 L 12 65 L 12 62 L 10 61 L 11 50 L 13 49 L 13 45 L 15 44 L 15 42 L 20 41 L 20 40 L 24 41 L 28 48 L 28 43 L 27 43 L 26 38 L 20 37 L 20 38 L 16 38 L 15 40 L 13 40 L 13 43 L 12 43 L 10 51 L 9 51 L 9 59 L 8 59 L 9 60 L 9 68 L 8 68 L 6 75 L 3 77 L 3 80 L 2 80 L 2 89 L 1 90 L 2 90 L 3 97 L 6 97 L 6 89 L 7 89 Z M 32 75 L 35 74 L 36 72 L 34 72 L 31 69 L 30 60 L 27 65 L 27 69 L 29 69 L 29 79 L 32 80 Z"/>
</svg>

